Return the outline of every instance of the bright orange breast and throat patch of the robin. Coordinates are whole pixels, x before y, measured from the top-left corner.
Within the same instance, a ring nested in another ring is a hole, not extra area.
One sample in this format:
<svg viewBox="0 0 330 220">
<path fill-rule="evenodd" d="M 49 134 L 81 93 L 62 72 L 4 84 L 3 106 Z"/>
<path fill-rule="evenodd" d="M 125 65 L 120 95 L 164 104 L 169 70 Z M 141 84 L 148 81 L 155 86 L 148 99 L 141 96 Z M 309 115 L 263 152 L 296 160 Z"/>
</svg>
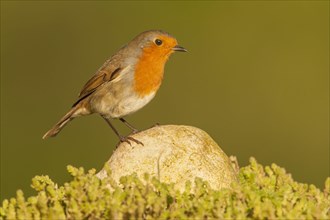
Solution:
<svg viewBox="0 0 330 220">
<path fill-rule="evenodd" d="M 164 66 L 169 54 L 150 46 L 144 48 L 139 62 L 135 66 L 134 90 L 140 97 L 157 91 L 164 74 Z"/>
</svg>

